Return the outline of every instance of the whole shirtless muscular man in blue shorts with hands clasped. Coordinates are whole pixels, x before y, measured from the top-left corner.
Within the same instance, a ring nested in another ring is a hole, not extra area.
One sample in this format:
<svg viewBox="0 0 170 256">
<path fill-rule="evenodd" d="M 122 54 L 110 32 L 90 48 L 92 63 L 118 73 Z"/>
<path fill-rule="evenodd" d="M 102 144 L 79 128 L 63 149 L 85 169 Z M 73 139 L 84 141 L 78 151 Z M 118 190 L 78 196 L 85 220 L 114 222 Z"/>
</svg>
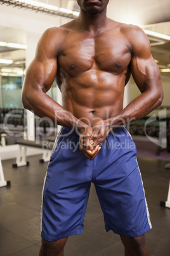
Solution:
<svg viewBox="0 0 170 256">
<path fill-rule="evenodd" d="M 23 106 L 63 126 L 44 183 L 40 256 L 63 255 L 67 237 L 82 233 L 91 181 L 106 230 L 121 236 L 125 255 L 149 255 L 151 224 L 136 150 L 121 150 L 129 134 L 120 125 L 159 106 L 162 85 L 147 36 L 107 18 L 108 1 L 77 0 L 79 17 L 44 32 L 25 76 Z M 123 110 L 131 74 L 141 94 Z M 55 79 L 63 106 L 46 94 Z M 63 150 L 68 141 L 79 148 Z"/>
</svg>

